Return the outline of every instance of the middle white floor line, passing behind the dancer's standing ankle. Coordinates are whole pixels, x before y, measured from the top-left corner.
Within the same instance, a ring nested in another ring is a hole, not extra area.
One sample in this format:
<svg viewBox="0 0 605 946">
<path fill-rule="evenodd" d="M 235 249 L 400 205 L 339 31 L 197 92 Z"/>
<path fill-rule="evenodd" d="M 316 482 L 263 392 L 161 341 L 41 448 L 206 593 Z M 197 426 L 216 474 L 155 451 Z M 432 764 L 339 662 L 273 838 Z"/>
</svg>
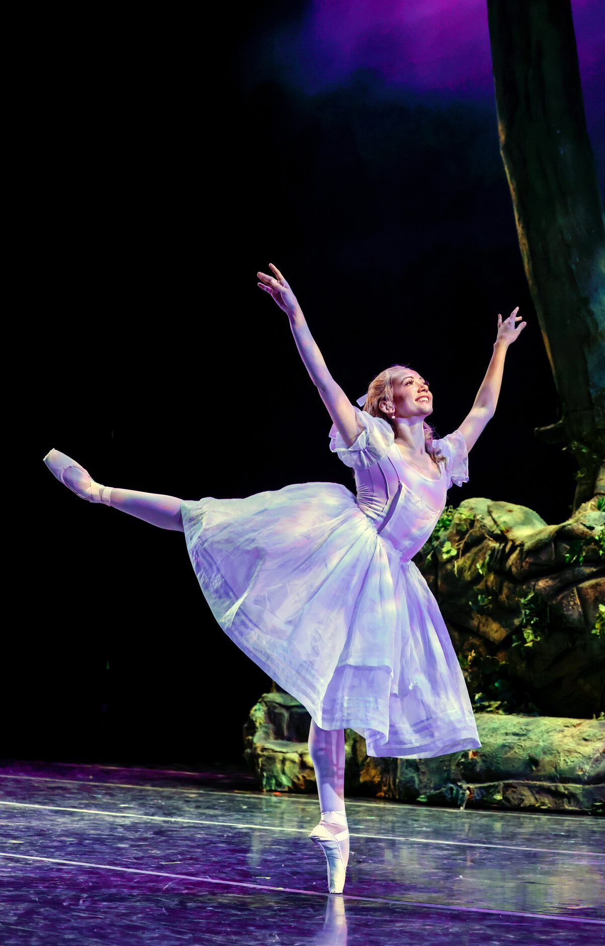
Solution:
<svg viewBox="0 0 605 946">
<path fill-rule="evenodd" d="M 306 828 L 285 828 L 281 825 L 256 825 L 256 824 L 242 824 L 238 821 L 216 821 L 214 818 L 208 820 L 205 818 L 182 818 L 178 816 L 170 817 L 168 815 L 136 815 L 130 812 L 104 812 L 96 808 L 69 808 L 62 805 L 37 805 L 32 802 L 24 801 L 0 801 L 0 805 L 6 805 L 9 808 L 35 808 L 37 810 L 47 811 L 47 812 L 76 812 L 78 815 L 103 815 L 104 817 L 117 817 L 117 818 L 132 818 L 137 821 L 178 821 L 180 824 L 192 824 L 192 825 L 220 825 L 224 828 L 252 828 L 255 831 L 285 831 L 293 832 L 295 834 L 308 833 Z M 391 834 L 365 834 L 363 832 L 351 832 L 352 837 L 367 837 L 367 838 L 377 838 L 381 841 L 413 841 L 416 844 L 444 844 L 451 845 L 453 847 L 459 848 L 497 848 L 498 850 L 527 850 L 535 851 L 537 853 L 543 854 L 564 854 L 566 857 L 578 857 L 580 855 L 587 854 L 590 857 L 604 857 L 605 854 L 598 853 L 594 850 L 559 850 L 557 848 L 527 848 L 523 845 L 515 844 L 489 844 L 489 843 L 478 843 L 475 841 L 445 841 L 436 838 L 427 838 L 427 837 L 411 837 L 406 834 L 391 835 Z M 581 863 L 581 862 L 579 862 Z M 590 863 L 590 862 L 589 862 Z"/>
</svg>

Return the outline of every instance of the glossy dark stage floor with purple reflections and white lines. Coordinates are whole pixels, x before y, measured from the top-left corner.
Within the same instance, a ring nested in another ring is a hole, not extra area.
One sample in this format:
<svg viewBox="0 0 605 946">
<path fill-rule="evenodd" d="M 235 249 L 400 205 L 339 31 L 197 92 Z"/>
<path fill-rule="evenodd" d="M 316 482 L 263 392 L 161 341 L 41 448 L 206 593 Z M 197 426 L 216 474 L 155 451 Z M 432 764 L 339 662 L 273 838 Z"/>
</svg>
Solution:
<svg viewBox="0 0 605 946">
<path fill-rule="evenodd" d="M 348 798 L 344 895 L 317 796 L 245 768 L 0 761 L 0 943 L 605 942 L 605 822 Z"/>
</svg>

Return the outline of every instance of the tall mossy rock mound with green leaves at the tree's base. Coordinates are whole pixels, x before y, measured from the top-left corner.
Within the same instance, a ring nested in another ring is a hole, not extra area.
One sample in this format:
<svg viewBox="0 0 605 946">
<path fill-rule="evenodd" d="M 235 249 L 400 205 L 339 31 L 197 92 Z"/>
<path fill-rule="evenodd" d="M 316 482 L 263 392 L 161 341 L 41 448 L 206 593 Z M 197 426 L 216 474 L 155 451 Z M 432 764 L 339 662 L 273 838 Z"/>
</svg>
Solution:
<svg viewBox="0 0 605 946">
<path fill-rule="evenodd" d="M 602 496 L 558 525 L 526 506 L 464 499 L 448 507 L 415 561 L 440 605 L 475 709 L 603 713 Z"/>
</svg>

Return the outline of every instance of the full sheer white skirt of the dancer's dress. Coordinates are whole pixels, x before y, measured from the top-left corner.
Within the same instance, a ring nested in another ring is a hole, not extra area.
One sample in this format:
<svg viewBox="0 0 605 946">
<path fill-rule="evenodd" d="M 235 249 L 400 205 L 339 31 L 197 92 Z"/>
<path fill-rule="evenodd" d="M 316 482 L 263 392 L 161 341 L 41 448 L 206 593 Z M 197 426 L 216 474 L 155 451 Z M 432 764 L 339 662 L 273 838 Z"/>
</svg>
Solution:
<svg viewBox="0 0 605 946">
<path fill-rule="evenodd" d="M 216 622 L 319 727 L 354 729 L 369 756 L 480 747 L 430 588 L 345 486 L 185 500 L 182 522 Z"/>
</svg>

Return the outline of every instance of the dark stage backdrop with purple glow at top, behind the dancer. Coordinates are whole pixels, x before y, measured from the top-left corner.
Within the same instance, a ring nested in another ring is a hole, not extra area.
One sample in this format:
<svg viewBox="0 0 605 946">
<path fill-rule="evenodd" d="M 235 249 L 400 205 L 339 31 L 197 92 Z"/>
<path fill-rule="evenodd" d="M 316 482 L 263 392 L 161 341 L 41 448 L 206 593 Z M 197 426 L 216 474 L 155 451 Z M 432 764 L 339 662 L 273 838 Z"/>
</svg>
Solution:
<svg viewBox="0 0 605 946">
<path fill-rule="evenodd" d="M 520 306 L 497 411 L 448 501 L 569 515 L 575 464 L 533 435 L 560 412 L 498 151 L 485 8 L 433 5 L 420 37 L 334 6 L 353 38 L 311 3 L 37 24 L 18 147 L 26 410 L 6 471 L 25 457 L 26 491 L 4 756 L 240 759 L 270 681 L 214 621 L 183 535 L 85 503 L 42 460 L 56 447 L 98 482 L 183 499 L 354 488 L 285 314 L 256 286 L 269 262 L 351 400 L 409 364 L 430 382 L 436 436 L 471 409 L 498 312 Z M 597 6 L 574 16 L 602 185 Z"/>
</svg>

